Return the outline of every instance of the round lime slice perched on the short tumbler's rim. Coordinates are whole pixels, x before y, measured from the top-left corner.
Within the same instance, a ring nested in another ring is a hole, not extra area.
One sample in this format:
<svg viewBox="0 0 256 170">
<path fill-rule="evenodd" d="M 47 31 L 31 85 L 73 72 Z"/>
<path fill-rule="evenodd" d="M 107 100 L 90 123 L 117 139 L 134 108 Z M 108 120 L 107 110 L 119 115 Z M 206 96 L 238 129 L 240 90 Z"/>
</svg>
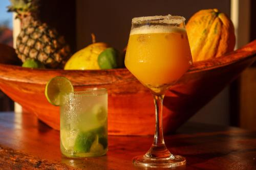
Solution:
<svg viewBox="0 0 256 170">
<path fill-rule="evenodd" d="M 45 89 L 46 99 L 54 106 L 59 106 L 61 96 L 74 91 L 74 87 L 69 79 L 65 77 L 54 77 L 47 84 Z"/>
</svg>

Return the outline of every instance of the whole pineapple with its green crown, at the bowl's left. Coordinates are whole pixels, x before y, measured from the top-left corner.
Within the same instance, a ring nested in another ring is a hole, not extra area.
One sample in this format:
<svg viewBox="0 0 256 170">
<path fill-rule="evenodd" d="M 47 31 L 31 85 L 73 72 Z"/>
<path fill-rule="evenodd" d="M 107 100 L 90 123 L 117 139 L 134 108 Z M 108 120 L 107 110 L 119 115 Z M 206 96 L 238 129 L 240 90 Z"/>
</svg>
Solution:
<svg viewBox="0 0 256 170">
<path fill-rule="evenodd" d="M 22 29 L 16 39 L 16 53 L 25 62 L 37 59 L 49 68 L 63 67 L 71 56 L 63 36 L 41 23 L 37 17 L 38 0 L 10 0 L 8 11 L 16 12 Z"/>
</svg>

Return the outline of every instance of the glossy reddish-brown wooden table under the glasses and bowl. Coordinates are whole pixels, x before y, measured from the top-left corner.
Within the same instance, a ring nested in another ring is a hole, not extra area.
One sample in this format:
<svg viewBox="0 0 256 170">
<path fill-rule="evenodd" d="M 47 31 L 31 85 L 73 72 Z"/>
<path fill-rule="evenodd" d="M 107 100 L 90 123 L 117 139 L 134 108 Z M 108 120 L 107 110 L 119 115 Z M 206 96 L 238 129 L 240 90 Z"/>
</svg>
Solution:
<svg viewBox="0 0 256 170">
<path fill-rule="evenodd" d="M 153 136 L 109 136 L 106 156 L 68 159 L 60 154 L 59 132 L 33 114 L 0 113 L 0 169 L 145 169 L 131 159 L 152 141 Z M 165 143 L 187 159 L 176 169 L 256 169 L 256 132 L 187 123 L 165 136 Z"/>
</svg>

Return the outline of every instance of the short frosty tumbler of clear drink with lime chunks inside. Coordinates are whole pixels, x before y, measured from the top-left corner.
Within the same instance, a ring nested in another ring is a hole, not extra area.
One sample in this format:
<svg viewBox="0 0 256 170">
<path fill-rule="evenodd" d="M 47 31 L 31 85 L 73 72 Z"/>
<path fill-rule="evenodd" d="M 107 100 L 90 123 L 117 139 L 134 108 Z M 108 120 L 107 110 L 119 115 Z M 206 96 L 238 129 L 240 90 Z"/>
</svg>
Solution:
<svg viewBox="0 0 256 170">
<path fill-rule="evenodd" d="M 64 94 L 60 106 L 60 151 L 93 157 L 108 151 L 108 92 L 90 88 Z"/>
</svg>

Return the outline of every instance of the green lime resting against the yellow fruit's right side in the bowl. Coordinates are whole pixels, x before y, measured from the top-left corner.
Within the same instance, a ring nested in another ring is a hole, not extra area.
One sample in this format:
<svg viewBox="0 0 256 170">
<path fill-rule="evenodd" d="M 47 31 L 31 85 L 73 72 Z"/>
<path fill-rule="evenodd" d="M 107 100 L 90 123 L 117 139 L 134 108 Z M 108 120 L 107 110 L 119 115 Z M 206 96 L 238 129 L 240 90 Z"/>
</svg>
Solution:
<svg viewBox="0 0 256 170">
<path fill-rule="evenodd" d="M 101 69 L 117 68 L 118 51 L 114 48 L 106 48 L 98 56 L 98 64 Z"/>
</svg>

